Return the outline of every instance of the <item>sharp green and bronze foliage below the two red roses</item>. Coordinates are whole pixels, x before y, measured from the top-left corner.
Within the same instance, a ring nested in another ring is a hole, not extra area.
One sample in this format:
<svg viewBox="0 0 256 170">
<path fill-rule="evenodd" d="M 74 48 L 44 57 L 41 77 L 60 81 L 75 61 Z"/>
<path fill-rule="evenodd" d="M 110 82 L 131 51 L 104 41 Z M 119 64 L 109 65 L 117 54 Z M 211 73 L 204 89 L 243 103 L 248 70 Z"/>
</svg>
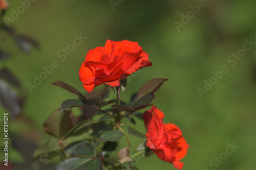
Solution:
<svg viewBox="0 0 256 170">
<path fill-rule="evenodd" d="M 135 161 L 134 155 L 145 156 L 146 153 L 149 155 L 150 149 L 145 147 L 145 141 L 143 141 L 142 146 L 139 144 L 137 151 L 130 156 L 129 134 L 139 138 L 145 138 L 145 135 L 133 127 L 127 127 L 126 132 L 122 120 L 129 118 L 135 124 L 133 117 L 138 117 L 139 110 L 151 105 L 151 102 L 155 100 L 154 93 L 166 80 L 158 78 L 148 81 L 131 97 L 129 103 L 121 101 L 120 98 L 120 89 L 124 90 L 126 83 L 121 83 L 116 89 L 108 88 L 109 92 L 115 91 L 117 100 L 105 101 L 103 98 L 98 100 L 94 92 L 90 94 L 95 96 L 94 99 L 87 100 L 87 96 L 82 95 L 74 87 L 61 81 L 54 82 L 54 85 L 72 92 L 79 99 L 63 101 L 60 109 L 54 111 L 44 123 L 45 132 L 60 143 L 55 156 L 60 156 L 62 161 L 53 169 L 121 169 L 131 166 L 129 163 Z M 91 118 L 84 119 L 72 114 L 71 108 L 80 107 L 83 110 L 83 107 L 88 106 L 95 109 L 95 115 Z M 118 152 L 119 160 L 115 160 L 111 153 L 115 151 L 121 137 L 126 138 L 127 147 Z M 51 143 L 53 138 L 48 143 Z M 38 148 L 34 159 L 38 159 L 38 153 L 48 150 L 49 147 Z M 131 167 L 137 169 L 135 166 Z"/>
</svg>

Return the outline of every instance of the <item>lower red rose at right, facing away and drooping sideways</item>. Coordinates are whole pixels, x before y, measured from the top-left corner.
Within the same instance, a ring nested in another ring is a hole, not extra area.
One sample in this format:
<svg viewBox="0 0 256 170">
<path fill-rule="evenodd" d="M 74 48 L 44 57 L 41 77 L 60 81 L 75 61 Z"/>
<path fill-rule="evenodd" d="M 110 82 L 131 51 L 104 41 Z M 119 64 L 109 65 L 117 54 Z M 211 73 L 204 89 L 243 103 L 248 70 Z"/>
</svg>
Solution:
<svg viewBox="0 0 256 170">
<path fill-rule="evenodd" d="M 144 123 L 147 129 L 146 146 L 153 150 L 158 158 L 173 163 L 177 169 L 182 169 L 180 162 L 186 153 L 189 145 L 182 136 L 181 130 L 174 124 L 164 124 L 163 112 L 156 106 L 143 114 Z"/>
</svg>

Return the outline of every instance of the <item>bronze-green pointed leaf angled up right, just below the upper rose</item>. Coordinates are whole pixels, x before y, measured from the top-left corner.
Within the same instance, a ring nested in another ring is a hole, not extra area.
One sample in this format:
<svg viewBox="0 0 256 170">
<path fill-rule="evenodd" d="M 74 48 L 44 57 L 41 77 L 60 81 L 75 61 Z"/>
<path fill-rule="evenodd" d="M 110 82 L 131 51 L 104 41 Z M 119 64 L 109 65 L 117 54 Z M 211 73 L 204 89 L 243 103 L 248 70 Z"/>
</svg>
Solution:
<svg viewBox="0 0 256 170">
<path fill-rule="evenodd" d="M 137 101 L 139 101 L 143 96 L 145 96 L 146 94 L 152 92 L 155 93 L 163 84 L 163 82 L 167 81 L 168 79 L 161 79 L 161 78 L 157 78 L 157 79 L 152 79 L 148 82 L 146 82 L 139 90 L 138 92 L 138 98 Z"/>
</svg>

